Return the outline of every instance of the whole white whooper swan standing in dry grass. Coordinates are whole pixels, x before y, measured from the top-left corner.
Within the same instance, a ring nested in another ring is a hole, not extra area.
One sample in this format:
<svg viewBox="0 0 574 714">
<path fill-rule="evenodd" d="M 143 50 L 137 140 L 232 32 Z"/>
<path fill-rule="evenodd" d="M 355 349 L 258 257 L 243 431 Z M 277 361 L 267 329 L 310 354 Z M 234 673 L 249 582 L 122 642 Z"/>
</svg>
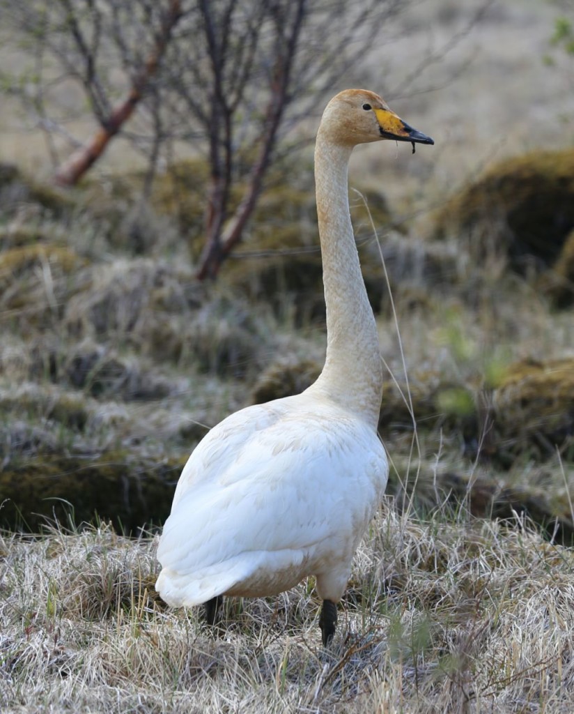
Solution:
<svg viewBox="0 0 574 714">
<path fill-rule="evenodd" d="M 325 109 L 315 147 L 327 356 L 296 396 L 249 406 L 203 438 L 183 469 L 158 548 L 166 603 L 275 595 L 314 575 L 324 645 L 337 625 L 359 541 L 389 467 L 376 433 L 382 368 L 349 218 L 354 146 L 381 139 L 434 144 L 380 96 L 349 89 Z"/>
</svg>

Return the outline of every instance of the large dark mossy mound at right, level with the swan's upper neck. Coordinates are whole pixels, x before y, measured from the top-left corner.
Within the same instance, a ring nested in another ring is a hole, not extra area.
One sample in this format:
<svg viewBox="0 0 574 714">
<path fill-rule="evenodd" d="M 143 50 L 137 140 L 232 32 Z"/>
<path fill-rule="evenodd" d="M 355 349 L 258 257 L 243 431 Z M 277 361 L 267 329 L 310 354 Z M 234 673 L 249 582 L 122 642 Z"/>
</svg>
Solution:
<svg viewBox="0 0 574 714">
<path fill-rule="evenodd" d="M 521 273 L 560 257 L 574 227 L 574 149 L 535 151 L 493 166 L 453 196 L 435 236 L 468 236 L 480 257 L 504 253 Z"/>
</svg>

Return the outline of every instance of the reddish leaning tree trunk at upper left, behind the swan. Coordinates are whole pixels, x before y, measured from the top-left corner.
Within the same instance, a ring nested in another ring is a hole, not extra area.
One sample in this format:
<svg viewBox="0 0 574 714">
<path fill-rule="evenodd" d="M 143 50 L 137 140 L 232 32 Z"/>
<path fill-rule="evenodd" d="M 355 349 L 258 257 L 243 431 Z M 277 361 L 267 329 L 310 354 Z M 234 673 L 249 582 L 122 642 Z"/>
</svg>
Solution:
<svg viewBox="0 0 574 714">
<path fill-rule="evenodd" d="M 168 11 L 163 17 L 160 32 L 155 40 L 155 46 L 147 61 L 135 76 L 127 99 L 111 114 L 101 121 L 101 128 L 96 131 L 91 141 L 75 151 L 71 157 L 56 171 L 53 181 L 60 186 L 73 186 L 90 169 L 106 150 L 113 136 L 118 134 L 133 110 L 145 96 L 145 90 L 151 77 L 155 74 L 160 60 L 169 44 L 173 28 L 182 16 L 180 0 L 170 0 Z"/>
</svg>

